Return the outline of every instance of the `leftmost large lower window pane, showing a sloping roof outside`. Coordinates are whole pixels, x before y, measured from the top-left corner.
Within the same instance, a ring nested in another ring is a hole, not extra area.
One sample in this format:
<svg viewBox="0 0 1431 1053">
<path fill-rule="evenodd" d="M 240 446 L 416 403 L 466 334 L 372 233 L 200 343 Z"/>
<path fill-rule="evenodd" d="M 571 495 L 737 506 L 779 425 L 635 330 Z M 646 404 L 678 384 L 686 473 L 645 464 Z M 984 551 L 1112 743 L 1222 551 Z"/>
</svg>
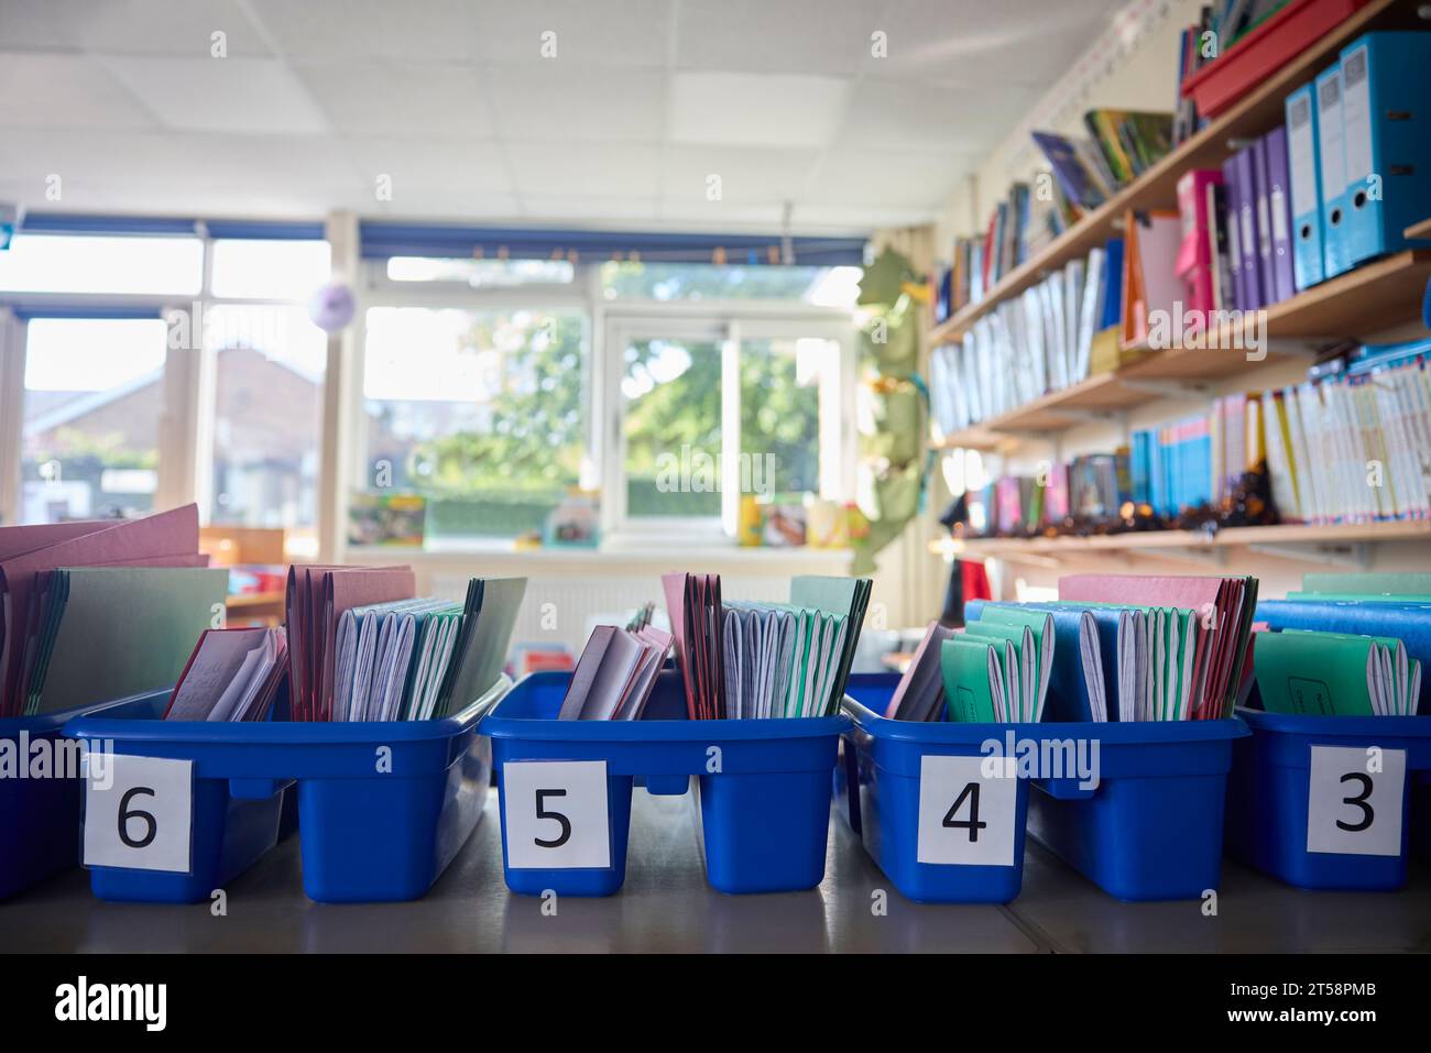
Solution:
<svg viewBox="0 0 1431 1053">
<path fill-rule="evenodd" d="M 163 413 L 160 319 L 31 319 L 24 361 L 21 522 L 153 508 Z"/>
</svg>

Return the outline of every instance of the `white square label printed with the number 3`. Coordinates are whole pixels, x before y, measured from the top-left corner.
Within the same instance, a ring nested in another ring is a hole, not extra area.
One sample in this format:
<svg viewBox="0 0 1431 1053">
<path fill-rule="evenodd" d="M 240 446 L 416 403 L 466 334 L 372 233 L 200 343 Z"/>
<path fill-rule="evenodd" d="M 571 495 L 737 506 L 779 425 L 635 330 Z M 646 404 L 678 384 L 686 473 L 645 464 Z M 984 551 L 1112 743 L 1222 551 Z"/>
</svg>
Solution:
<svg viewBox="0 0 1431 1053">
<path fill-rule="evenodd" d="M 1400 856 L 1407 751 L 1382 750 L 1368 771 L 1367 750 L 1314 745 L 1307 791 L 1307 851 Z"/>
</svg>

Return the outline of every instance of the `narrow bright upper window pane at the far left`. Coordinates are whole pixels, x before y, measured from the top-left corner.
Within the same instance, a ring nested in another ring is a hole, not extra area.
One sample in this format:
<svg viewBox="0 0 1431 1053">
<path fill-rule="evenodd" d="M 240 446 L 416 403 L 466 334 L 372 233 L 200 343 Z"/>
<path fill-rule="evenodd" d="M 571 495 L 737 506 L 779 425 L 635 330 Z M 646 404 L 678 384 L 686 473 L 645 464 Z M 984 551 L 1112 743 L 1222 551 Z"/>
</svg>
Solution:
<svg viewBox="0 0 1431 1053">
<path fill-rule="evenodd" d="M 17 235 L 0 252 L 0 290 L 193 296 L 203 288 L 197 237 Z"/>
</svg>

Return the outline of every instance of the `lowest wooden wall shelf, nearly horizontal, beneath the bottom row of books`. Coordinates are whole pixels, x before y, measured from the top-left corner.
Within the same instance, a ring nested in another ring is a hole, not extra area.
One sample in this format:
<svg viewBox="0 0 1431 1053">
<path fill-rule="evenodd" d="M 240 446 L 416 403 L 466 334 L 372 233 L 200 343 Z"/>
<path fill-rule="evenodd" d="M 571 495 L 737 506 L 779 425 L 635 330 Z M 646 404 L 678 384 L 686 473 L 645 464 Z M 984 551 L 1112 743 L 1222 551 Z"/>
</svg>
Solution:
<svg viewBox="0 0 1431 1053">
<path fill-rule="evenodd" d="M 1149 531 L 1145 534 L 1109 534 L 1092 538 L 943 538 L 929 551 L 960 558 L 1049 558 L 1092 552 L 1138 552 L 1156 549 L 1222 549 L 1246 545 L 1335 545 L 1375 544 L 1381 541 L 1431 541 L 1431 521 L 1394 519 L 1387 522 L 1282 526 L 1229 526 L 1216 534 L 1196 531 Z"/>
</svg>

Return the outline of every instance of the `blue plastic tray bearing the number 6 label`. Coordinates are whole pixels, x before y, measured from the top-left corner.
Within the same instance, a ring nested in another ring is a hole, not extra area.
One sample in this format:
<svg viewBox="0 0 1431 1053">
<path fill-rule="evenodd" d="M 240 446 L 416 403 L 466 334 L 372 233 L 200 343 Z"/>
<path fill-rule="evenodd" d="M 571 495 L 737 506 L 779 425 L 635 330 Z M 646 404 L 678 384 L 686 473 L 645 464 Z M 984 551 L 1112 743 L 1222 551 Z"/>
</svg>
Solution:
<svg viewBox="0 0 1431 1053">
<path fill-rule="evenodd" d="M 481 818 L 491 744 L 477 724 L 509 685 L 504 678 L 484 698 L 435 721 L 73 720 L 64 727 L 70 737 L 107 738 L 120 754 L 195 764 L 192 871 L 92 867 L 90 887 L 104 900 L 206 900 L 278 843 L 283 791 L 296 783 L 309 898 L 418 898 Z M 379 747 L 392 751 L 391 771 L 378 771 Z"/>
</svg>

